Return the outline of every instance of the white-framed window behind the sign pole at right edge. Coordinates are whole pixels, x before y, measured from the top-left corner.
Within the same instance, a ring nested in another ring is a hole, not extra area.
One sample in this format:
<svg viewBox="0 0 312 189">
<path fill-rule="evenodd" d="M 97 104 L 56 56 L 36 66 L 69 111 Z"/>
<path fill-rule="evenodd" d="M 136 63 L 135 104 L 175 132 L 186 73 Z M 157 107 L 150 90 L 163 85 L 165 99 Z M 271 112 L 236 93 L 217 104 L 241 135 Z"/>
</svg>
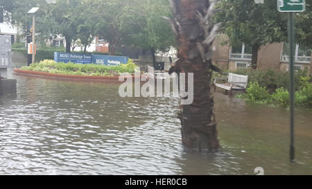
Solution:
<svg viewBox="0 0 312 189">
<path fill-rule="evenodd" d="M 281 62 L 289 62 L 289 44 L 284 43 Z M 295 46 L 295 62 L 311 63 L 311 49 L 297 44 Z"/>
</svg>

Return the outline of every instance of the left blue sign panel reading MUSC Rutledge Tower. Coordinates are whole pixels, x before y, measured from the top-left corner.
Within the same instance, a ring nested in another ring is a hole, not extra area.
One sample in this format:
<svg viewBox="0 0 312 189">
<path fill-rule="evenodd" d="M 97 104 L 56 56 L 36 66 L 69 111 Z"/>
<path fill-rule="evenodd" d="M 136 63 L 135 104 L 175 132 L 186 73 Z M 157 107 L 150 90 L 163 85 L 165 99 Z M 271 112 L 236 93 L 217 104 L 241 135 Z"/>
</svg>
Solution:
<svg viewBox="0 0 312 189">
<path fill-rule="evenodd" d="M 91 64 L 92 55 L 83 55 L 78 53 L 59 53 L 54 52 L 55 62 L 73 62 L 78 64 Z"/>
</svg>

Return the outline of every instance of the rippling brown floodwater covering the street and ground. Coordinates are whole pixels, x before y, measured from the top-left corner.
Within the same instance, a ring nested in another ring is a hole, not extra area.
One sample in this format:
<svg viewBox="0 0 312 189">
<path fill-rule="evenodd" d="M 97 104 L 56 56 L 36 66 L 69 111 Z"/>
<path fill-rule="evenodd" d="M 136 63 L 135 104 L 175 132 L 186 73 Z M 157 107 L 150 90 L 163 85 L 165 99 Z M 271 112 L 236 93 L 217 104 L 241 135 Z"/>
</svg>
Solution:
<svg viewBox="0 0 312 189">
<path fill-rule="evenodd" d="M 214 93 L 220 152 L 182 146 L 178 99 L 120 98 L 118 84 L 17 78 L 0 97 L 0 174 L 312 174 L 312 111 Z"/>
</svg>

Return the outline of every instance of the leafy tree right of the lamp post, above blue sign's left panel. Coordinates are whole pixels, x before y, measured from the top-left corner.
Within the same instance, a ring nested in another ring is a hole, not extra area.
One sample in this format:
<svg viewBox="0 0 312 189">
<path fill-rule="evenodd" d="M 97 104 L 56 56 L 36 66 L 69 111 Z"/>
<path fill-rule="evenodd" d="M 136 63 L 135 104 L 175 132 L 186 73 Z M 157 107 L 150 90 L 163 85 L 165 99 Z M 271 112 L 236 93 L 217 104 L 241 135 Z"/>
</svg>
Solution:
<svg viewBox="0 0 312 189">
<path fill-rule="evenodd" d="M 63 35 L 66 39 L 66 51 L 69 53 L 76 47 L 79 40 L 85 46 L 94 39 L 94 22 L 89 19 L 88 5 L 83 0 L 58 0 L 55 4 L 46 6 L 45 16 L 42 19 L 42 30 L 53 26 L 49 33 Z M 43 21 L 45 19 L 45 21 Z M 45 26 L 45 25 L 48 26 Z M 73 45 L 71 46 L 71 44 Z"/>
</svg>

